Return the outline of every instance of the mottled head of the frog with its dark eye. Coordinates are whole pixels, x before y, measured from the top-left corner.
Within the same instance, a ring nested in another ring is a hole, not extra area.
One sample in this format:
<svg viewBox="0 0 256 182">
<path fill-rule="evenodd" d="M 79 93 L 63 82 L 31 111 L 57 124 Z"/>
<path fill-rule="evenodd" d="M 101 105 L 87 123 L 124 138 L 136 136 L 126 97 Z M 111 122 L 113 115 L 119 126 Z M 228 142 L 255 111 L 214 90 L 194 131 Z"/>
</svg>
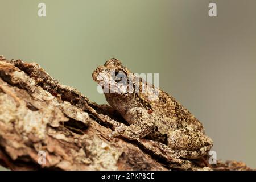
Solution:
<svg viewBox="0 0 256 182">
<path fill-rule="evenodd" d="M 121 61 L 112 58 L 104 65 L 97 67 L 92 77 L 102 87 L 104 93 L 127 93 L 129 74 L 130 71 L 122 65 Z"/>
</svg>

